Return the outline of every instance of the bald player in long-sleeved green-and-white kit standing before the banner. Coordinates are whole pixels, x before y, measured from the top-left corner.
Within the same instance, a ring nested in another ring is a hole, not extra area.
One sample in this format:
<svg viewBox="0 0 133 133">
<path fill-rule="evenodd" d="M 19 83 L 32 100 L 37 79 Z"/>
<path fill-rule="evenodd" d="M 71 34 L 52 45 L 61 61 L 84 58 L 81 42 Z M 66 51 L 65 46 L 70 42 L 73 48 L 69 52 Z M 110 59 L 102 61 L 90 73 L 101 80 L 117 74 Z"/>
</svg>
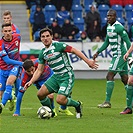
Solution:
<svg viewBox="0 0 133 133">
<path fill-rule="evenodd" d="M 119 73 L 121 81 L 125 85 L 125 89 L 127 88 L 128 81 L 128 63 L 124 61 L 123 56 L 126 53 L 126 48 L 130 48 L 131 42 L 123 25 L 116 20 L 115 10 L 110 9 L 107 12 L 107 22 L 108 26 L 105 42 L 93 55 L 93 59 L 95 60 L 99 53 L 111 45 L 113 55 L 106 76 L 106 99 L 104 103 L 98 105 L 99 108 L 111 108 L 110 100 L 114 89 L 114 77 L 117 73 Z"/>
</svg>

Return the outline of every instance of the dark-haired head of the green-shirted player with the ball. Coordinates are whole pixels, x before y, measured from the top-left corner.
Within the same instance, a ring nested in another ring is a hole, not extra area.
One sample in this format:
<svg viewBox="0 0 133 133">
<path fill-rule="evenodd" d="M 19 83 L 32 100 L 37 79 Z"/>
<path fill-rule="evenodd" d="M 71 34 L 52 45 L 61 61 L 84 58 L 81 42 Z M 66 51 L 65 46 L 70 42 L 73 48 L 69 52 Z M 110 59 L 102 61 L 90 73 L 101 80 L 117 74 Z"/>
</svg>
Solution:
<svg viewBox="0 0 133 133">
<path fill-rule="evenodd" d="M 44 28 L 40 31 L 40 39 L 42 43 L 46 46 L 49 47 L 50 44 L 52 43 L 52 38 L 53 38 L 53 32 L 49 28 Z"/>
</svg>

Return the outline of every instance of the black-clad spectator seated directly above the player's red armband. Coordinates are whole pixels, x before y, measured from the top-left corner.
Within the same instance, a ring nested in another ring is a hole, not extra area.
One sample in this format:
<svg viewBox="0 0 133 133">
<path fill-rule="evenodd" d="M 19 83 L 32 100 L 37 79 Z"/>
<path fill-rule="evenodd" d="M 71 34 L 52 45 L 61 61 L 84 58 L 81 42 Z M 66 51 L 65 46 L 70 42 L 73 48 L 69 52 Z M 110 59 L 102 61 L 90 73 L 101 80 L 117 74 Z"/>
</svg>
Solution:
<svg viewBox="0 0 133 133">
<path fill-rule="evenodd" d="M 71 24 L 69 19 L 66 19 L 63 26 L 62 26 L 62 36 L 63 39 L 74 39 L 74 36 L 79 32 L 78 27 Z"/>
</svg>

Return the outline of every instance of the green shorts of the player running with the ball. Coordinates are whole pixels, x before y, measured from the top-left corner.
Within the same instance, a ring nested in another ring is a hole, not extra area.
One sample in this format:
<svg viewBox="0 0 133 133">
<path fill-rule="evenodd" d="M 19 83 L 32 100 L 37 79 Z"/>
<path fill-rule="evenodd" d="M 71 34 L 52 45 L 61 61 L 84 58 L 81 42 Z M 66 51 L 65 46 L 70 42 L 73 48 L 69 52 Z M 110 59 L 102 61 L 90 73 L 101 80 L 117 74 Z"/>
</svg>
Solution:
<svg viewBox="0 0 133 133">
<path fill-rule="evenodd" d="M 73 71 L 60 75 L 54 74 L 44 83 L 44 85 L 47 87 L 50 93 L 55 92 L 68 97 L 72 92 L 74 79 L 75 77 Z"/>
</svg>

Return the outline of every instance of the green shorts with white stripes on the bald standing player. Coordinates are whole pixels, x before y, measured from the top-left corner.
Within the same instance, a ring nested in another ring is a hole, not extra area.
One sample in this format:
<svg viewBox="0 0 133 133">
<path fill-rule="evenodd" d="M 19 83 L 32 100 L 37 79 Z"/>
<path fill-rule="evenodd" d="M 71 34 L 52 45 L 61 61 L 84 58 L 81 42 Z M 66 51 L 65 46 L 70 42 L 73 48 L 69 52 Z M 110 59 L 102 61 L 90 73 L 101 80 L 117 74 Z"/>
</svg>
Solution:
<svg viewBox="0 0 133 133">
<path fill-rule="evenodd" d="M 128 62 L 123 57 L 113 57 L 109 66 L 109 71 L 119 73 L 120 75 L 128 74 Z"/>
</svg>

